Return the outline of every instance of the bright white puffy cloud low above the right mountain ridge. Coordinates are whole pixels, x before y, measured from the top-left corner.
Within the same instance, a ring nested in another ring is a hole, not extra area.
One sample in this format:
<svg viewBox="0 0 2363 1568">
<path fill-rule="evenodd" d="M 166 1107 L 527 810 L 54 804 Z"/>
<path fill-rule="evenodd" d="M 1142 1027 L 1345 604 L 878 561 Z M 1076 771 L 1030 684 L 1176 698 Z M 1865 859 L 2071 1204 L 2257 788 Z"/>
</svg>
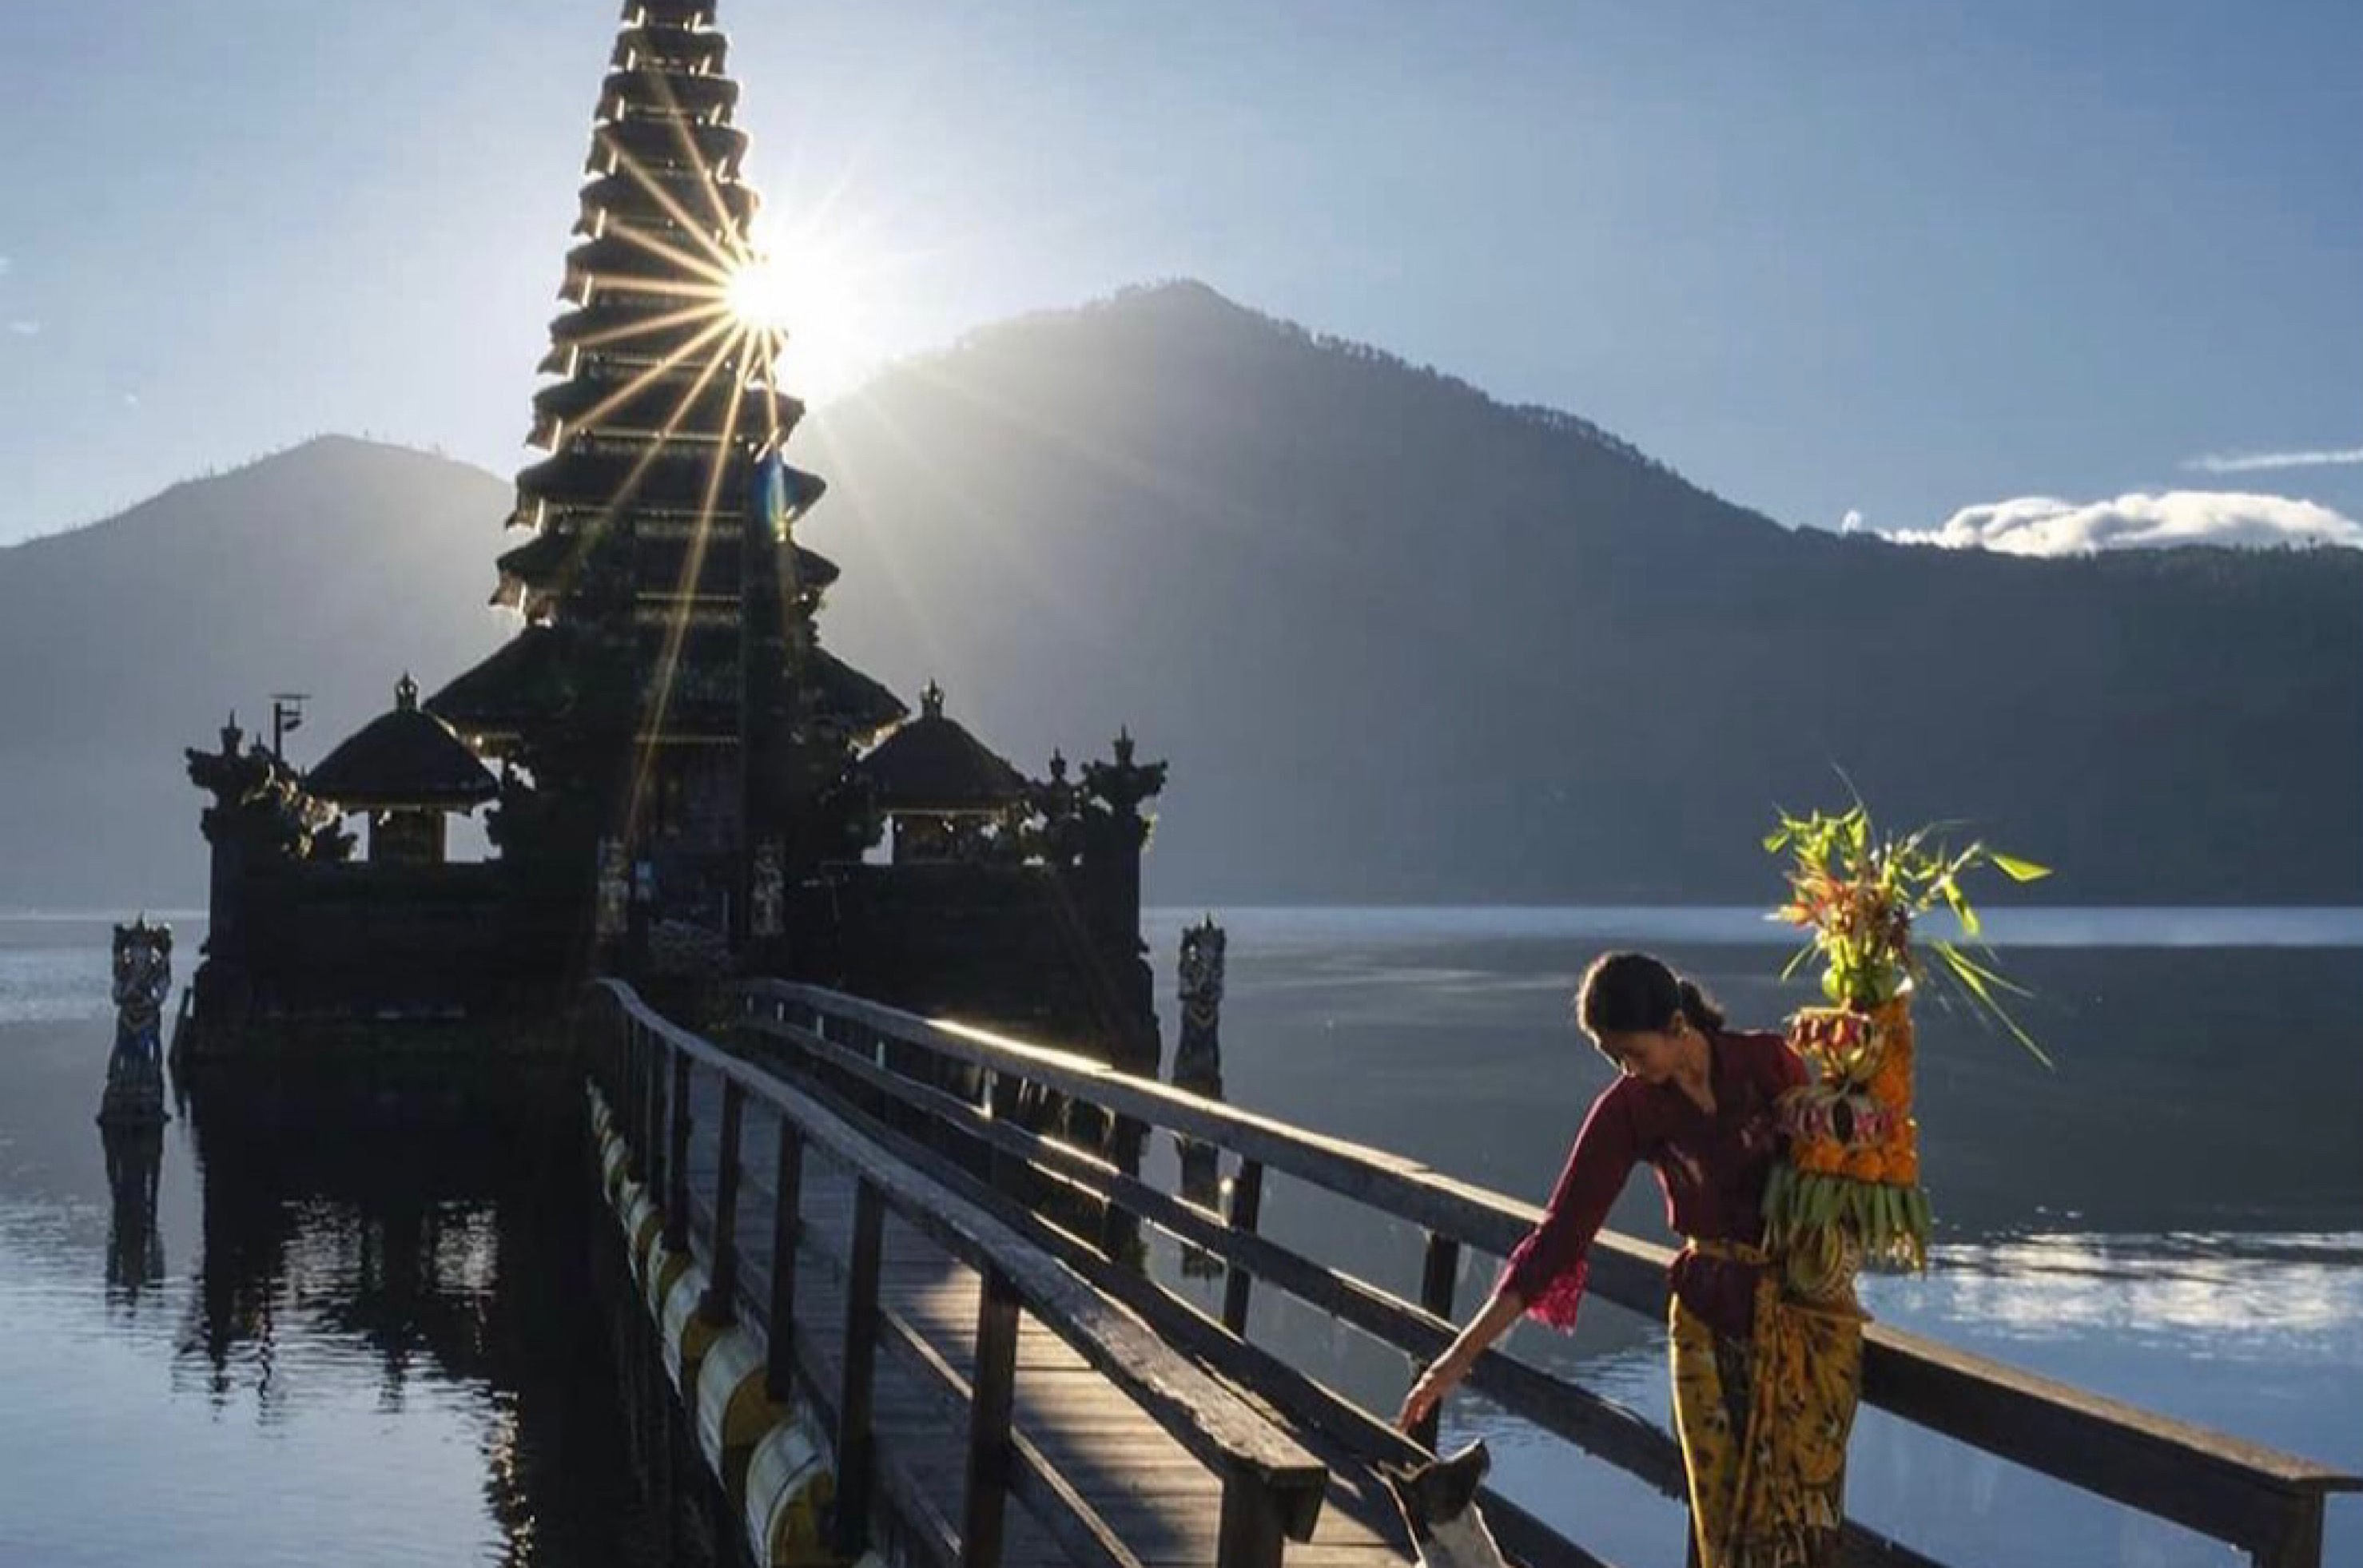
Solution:
<svg viewBox="0 0 2363 1568">
<path fill-rule="evenodd" d="M 1938 529 L 1900 529 L 1888 538 L 1947 550 L 2001 555 L 2091 555 L 2094 550 L 2157 550 L 2167 545 L 2299 545 L 2363 548 L 2363 524 L 2313 501 L 2247 496 L 2240 491 L 2162 491 L 2115 501 L 2020 496 L 1966 505 Z"/>
</svg>

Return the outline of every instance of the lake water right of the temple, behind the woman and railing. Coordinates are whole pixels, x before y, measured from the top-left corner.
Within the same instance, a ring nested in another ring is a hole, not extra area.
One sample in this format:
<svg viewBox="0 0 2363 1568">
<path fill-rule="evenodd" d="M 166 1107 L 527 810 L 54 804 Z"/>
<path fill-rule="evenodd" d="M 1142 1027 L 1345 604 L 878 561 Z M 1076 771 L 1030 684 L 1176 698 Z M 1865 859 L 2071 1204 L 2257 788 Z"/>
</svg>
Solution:
<svg viewBox="0 0 2363 1568">
<path fill-rule="evenodd" d="M 1170 956 L 1198 914 L 1153 923 L 1167 1041 Z M 1789 933 L 1753 909 L 1243 909 L 1224 923 L 1233 1100 L 1534 1202 L 1609 1077 L 1567 1027 L 1595 952 L 1666 954 L 1739 1025 L 1810 1001 L 1777 985 Z M 1992 930 L 2037 992 L 2023 1018 L 2058 1070 L 1923 1004 L 1940 1249 L 1926 1278 L 1867 1282 L 1874 1313 L 2363 1471 L 2363 912 L 2046 909 L 2004 912 Z M 1656 1183 L 1638 1176 L 1612 1223 L 1664 1240 Z M 1264 1228 L 1415 1292 L 1408 1226 L 1274 1181 Z M 1470 1259 L 1460 1313 L 1493 1263 Z M 1174 1259 L 1165 1268 L 1177 1278 Z M 1406 1384 L 1399 1353 L 1271 1292 L 1255 1332 L 1373 1407 Z M 1656 1325 L 1593 1304 L 1576 1334 L 1522 1327 L 1512 1348 L 1666 1419 Z M 1680 1511 L 1640 1483 L 1475 1400 L 1451 1429 L 1486 1436 L 1496 1481 L 1612 1561 L 1682 1561 Z M 2245 1561 L 1874 1410 L 1855 1429 L 1850 1504 L 1964 1563 Z M 2363 1500 L 2332 1502 L 2325 1561 L 2363 1563 Z"/>
</svg>

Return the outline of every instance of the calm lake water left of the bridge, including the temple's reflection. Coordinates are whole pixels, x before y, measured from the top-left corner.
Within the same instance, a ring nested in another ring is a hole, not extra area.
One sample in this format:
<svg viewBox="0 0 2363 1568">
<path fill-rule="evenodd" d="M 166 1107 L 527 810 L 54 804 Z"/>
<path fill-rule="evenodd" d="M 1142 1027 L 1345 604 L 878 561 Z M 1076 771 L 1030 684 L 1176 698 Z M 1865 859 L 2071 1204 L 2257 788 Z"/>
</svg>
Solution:
<svg viewBox="0 0 2363 1568">
<path fill-rule="evenodd" d="M 574 1084 L 276 1084 L 269 1131 L 106 1145 L 106 963 L 0 923 L 0 1566 L 662 1561 Z"/>
</svg>

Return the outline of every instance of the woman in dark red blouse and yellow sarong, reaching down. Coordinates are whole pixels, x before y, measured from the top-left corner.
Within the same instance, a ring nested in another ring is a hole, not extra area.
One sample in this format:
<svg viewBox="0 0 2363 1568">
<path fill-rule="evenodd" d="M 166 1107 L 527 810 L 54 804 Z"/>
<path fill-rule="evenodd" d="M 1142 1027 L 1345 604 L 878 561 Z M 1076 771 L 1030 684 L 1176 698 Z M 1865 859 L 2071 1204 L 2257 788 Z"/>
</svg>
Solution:
<svg viewBox="0 0 2363 1568">
<path fill-rule="evenodd" d="M 1574 1327 L 1593 1235 L 1647 1162 L 1687 1237 L 1668 1315 L 1697 1561 L 1822 1563 L 1843 1516 L 1862 1320 L 1782 1299 L 1760 1214 L 1779 1152 L 1775 1103 L 1805 1082 L 1805 1063 L 1779 1034 L 1725 1030 L 1697 985 L 1638 952 L 1593 961 L 1576 1023 L 1621 1077 L 1593 1100 L 1543 1223 L 1411 1386 L 1399 1424 L 1418 1424 L 1519 1315 Z"/>
</svg>

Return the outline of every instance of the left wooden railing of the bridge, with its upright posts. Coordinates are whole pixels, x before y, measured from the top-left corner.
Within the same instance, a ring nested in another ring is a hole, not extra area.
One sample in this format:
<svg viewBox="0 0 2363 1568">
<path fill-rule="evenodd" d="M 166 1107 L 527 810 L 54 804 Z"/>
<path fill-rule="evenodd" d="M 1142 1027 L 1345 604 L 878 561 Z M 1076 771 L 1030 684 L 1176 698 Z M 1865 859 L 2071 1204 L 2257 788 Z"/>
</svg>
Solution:
<svg viewBox="0 0 2363 1568">
<path fill-rule="evenodd" d="M 896 1327 L 879 1304 L 884 1219 L 898 1214 L 981 1280 L 976 1365 L 969 1379 L 969 1443 L 962 1528 L 938 1521 L 933 1554 L 962 1568 L 995 1568 L 1002 1549 L 1007 1497 L 1021 1497 L 1080 1563 L 1139 1568 L 1137 1559 L 1078 1504 L 1066 1481 L 1011 1433 L 1016 1398 L 1018 1311 L 1028 1311 L 1075 1348 L 1101 1377 L 1158 1422 L 1184 1450 L 1222 1478 L 1217 1568 L 1278 1568 L 1283 1540 L 1309 1540 L 1328 1485 L 1328 1466 L 1285 1431 L 1248 1407 L 1229 1386 L 1165 1346 L 1134 1315 L 1101 1296 L 1054 1256 L 1014 1233 L 929 1174 L 898 1162 L 777 1074 L 754 1067 L 650 1011 L 619 980 L 600 989 L 619 1011 L 619 1027 L 595 1051 L 626 1143 L 643 1162 L 636 1174 L 659 1195 L 666 1247 L 697 1252 L 711 1287 L 699 1306 L 714 1322 L 742 1308 L 768 1332 L 766 1381 L 787 1398 L 803 1372 L 803 1391 L 834 1426 L 837 1525 L 844 1556 L 867 1544 L 872 1485 L 879 1455 L 872 1433 L 872 1384 L 881 1329 Z M 690 1183 L 692 1079 L 721 1082 L 718 1169 L 711 1219 L 697 1233 L 704 1204 Z M 740 1282 L 737 1209 L 747 1103 L 761 1100 L 780 1117 L 773 1171 L 770 1289 L 756 1301 Z M 803 1228 L 803 1157 L 820 1152 L 851 1178 L 853 1247 L 846 1266 L 846 1320 L 837 1355 L 837 1386 L 818 1386 L 825 1358 L 796 1329 L 796 1242 Z M 912 1329 L 900 1329 L 917 1344 Z M 900 1497 L 905 1518 L 936 1516 L 936 1488 Z M 950 1547 L 957 1542 L 957 1559 Z"/>
</svg>

